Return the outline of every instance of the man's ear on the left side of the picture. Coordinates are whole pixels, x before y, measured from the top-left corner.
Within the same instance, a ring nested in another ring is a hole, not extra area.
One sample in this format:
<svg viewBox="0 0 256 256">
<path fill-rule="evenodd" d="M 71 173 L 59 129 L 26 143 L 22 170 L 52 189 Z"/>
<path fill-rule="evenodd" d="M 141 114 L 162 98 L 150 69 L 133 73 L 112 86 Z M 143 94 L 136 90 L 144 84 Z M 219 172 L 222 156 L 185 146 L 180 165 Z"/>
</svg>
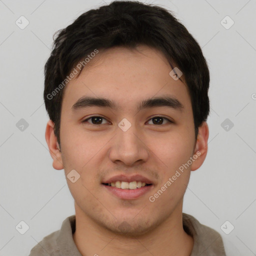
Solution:
<svg viewBox="0 0 256 256">
<path fill-rule="evenodd" d="M 49 152 L 51 155 L 51 158 L 53 159 L 52 166 L 56 170 L 63 169 L 63 163 L 62 163 L 62 157 L 61 152 L 58 149 L 59 145 L 57 142 L 57 137 L 54 134 L 54 123 L 52 120 L 49 120 L 46 125 L 45 129 L 45 139 L 48 144 Z"/>
</svg>

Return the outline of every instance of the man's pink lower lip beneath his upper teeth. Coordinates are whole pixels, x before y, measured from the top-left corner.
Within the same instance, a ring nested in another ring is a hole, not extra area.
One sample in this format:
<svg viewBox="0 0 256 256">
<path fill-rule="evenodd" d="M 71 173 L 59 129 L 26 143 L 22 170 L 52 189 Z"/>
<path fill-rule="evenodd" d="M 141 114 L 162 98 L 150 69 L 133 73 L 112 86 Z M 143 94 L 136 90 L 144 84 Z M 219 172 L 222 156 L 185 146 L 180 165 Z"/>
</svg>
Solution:
<svg viewBox="0 0 256 256">
<path fill-rule="evenodd" d="M 122 188 L 117 188 L 114 186 L 108 186 L 108 185 L 103 185 L 109 192 L 113 193 L 115 196 L 121 199 L 136 199 L 139 196 L 145 194 L 148 192 L 150 189 L 152 189 L 153 185 L 149 186 L 141 186 L 139 188 L 135 189 L 122 189 Z"/>
</svg>

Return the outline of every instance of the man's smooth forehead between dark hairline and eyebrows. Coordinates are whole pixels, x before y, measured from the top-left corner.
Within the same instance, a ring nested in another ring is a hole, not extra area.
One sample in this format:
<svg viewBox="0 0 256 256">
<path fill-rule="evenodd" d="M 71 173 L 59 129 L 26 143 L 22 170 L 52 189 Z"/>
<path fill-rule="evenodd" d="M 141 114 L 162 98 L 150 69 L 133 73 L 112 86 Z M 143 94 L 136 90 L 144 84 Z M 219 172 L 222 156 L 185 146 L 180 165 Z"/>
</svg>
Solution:
<svg viewBox="0 0 256 256">
<path fill-rule="evenodd" d="M 120 109 L 137 109 L 143 99 L 167 94 L 186 104 L 189 101 L 187 86 L 179 79 L 174 80 L 169 75 L 171 70 L 161 51 L 145 45 L 136 49 L 99 50 L 79 76 L 66 85 L 62 104 L 71 109 L 86 95 L 109 98 Z"/>
</svg>

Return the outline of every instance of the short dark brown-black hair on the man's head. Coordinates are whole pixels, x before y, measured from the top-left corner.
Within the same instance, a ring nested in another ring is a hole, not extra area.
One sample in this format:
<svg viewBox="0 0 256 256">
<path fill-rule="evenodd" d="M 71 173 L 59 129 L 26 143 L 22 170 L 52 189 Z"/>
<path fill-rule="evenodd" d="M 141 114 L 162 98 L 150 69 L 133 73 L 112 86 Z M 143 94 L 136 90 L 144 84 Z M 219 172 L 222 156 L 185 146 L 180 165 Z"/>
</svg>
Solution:
<svg viewBox="0 0 256 256">
<path fill-rule="evenodd" d="M 95 49 L 135 48 L 139 44 L 160 50 L 171 66 L 182 71 L 197 137 L 198 127 L 209 113 L 209 70 L 200 46 L 171 12 L 138 1 L 113 1 L 82 13 L 54 35 L 57 37 L 53 38 L 53 49 L 44 66 L 43 96 L 59 144 L 61 103 L 71 70 Z"/>
</svg>

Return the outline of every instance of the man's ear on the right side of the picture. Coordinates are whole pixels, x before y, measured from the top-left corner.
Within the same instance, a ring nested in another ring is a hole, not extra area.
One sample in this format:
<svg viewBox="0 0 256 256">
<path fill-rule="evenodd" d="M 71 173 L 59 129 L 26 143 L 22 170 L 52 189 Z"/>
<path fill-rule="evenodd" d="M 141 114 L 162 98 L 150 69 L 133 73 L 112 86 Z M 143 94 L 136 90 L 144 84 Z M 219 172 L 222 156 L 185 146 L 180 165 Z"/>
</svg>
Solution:
<svg viewBox="0 0 256 256">
<path fill-rule="evenodd" d="M 202 165 L 208 150 L 208 137 L 208 124 L 203 121 L 202 124 L 198 127 L 198 134 L 193 152 L 194 161 L 191 164 L 191 170 L 196 170 Z"/>
</svg>

